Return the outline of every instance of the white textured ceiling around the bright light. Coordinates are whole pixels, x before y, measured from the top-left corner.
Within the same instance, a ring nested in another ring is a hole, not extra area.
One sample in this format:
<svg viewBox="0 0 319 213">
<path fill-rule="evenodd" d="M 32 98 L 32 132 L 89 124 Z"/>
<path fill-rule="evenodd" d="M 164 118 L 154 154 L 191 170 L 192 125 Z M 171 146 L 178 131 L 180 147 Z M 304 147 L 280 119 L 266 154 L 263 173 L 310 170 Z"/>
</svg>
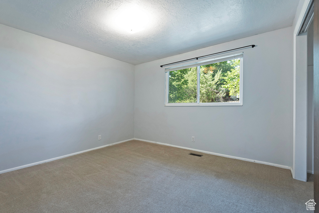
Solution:
<svg viewBox="0 0 319 213">
<path fill-rule="evenodd" d="M 137 65 L 289 27 L 298 3 L 299 0 L 0 0 L 0 23 Z M 150 24 L 144 30 L 130 34 L 114 27 L 114 16 L 125 17 L 124 8 L 137 7 L 149 14 Z"/>
</svg>

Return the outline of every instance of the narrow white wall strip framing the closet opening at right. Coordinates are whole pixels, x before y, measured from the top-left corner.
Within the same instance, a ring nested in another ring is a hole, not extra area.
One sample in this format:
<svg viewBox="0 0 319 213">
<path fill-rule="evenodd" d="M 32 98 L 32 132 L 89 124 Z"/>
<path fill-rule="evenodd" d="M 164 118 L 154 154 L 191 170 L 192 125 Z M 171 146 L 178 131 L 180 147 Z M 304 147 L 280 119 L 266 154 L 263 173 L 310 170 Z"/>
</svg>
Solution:
<svg viewBox="0 0 319 213">
<path fill-rule="evenodd" d="M 307 35 L 299 35 L 310 0 L 300 0 L 293 36 L 293 164 L 294 179 L 307 181 Z"/>
</svg>

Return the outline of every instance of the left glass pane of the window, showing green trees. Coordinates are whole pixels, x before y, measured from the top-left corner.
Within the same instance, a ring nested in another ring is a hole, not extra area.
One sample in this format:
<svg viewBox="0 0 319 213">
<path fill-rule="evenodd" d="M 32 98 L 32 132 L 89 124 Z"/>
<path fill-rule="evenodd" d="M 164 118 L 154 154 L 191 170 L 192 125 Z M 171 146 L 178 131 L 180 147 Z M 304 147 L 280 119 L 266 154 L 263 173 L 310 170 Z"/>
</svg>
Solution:
<svg viewBox="0 0 319 213">
<path fill-rule="evenodd" d="M 168 103 L 196 103 L 197 67 L 168 72 Z"/>
</svg>

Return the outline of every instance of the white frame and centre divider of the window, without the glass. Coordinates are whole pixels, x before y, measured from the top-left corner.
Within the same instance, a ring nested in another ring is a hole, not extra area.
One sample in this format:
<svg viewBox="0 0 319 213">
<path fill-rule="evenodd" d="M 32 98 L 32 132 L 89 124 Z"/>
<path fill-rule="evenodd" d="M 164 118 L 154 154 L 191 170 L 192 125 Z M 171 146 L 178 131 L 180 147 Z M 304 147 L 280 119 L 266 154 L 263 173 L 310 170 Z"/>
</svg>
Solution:
<svg viewBox="0 0 319 213">
<path fill-rule="evenodd" d="M 242 52 L 241 52 L 242 53 Z M 235 55 L 231 54 L 231 55 Z M 223 57 L 223 56 L 219 56 L 219 57 Z M 207 59 L 205 59 L 206 61 Z M 209 59 L 208 59 L 209 60 Z M 213 59 L 212 59 L 213 60 Z M 224 60 L 225 61 L 225 60 Z M 211 61 L 212 62 L 212 61 Z M 207 64 L 212 64 L 211 62 L 207 62 Z M 222 62 L 222 60 L 220 61 Z M 195 62 L 193 63 L 193 67 L 196 66 L 196 64 L 201 63 L 201 61 L 199 62 Z M 218 63 L 218 62 L 214 62 L 214 63 Z M 207 65 L 206 64 L 206 65 Z M 183 69 L 183 67 L 186 67 L 192 64 L 188 64 L 188 65 L 181 65 L 178 66 L 180 67 L 180 69 Z M 203 66 L 203 64 L 201 64 L 200 66 Z M 200 66 L 197 66 L 197 102 L 196 103 L 168 103 L 168 91 L 169 91 L 169 72 L 165 72 L 165 105 L 164 106 L 242 106 L 243 105 L 243 89 L 242 89 L 242 84 L 243 84 L 243 56 L 240 57 L 240 73 L 239 73 L 239 102 L 219 102 L 219 103 L 199 103 L 199 81 L 200 81 Z"/>
</svg>

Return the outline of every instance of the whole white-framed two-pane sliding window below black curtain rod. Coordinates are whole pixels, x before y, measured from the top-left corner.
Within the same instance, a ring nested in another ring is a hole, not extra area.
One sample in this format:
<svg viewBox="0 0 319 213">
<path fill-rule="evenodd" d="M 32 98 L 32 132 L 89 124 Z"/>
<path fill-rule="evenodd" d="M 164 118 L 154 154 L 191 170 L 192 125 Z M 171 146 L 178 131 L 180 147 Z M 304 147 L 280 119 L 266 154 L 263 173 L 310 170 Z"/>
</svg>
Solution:
<svg viewBox="0 0 319 213">
<path fill-rule="evenodd" d="M 243 53 L 165 69 L 165 106 L 242 105 Z"/>
</svg>

